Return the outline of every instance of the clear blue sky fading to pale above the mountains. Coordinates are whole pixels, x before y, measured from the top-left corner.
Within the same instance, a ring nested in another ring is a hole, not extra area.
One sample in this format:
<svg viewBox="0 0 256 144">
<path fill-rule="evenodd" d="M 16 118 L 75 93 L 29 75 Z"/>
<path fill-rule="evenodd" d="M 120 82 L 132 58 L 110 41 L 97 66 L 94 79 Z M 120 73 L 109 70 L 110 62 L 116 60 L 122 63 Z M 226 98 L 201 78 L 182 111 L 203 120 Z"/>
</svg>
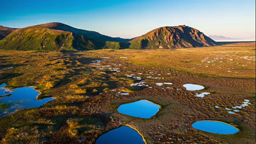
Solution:
<svg viewBox="0 0 256 144">
<path fill-rule="evenodd" d="M 206 35 L 255 35 L 255 0 L 3 0 L 0 25 L 62 22 L 133 38 L 162 26 L 187 25 Z"/>
</svg>

